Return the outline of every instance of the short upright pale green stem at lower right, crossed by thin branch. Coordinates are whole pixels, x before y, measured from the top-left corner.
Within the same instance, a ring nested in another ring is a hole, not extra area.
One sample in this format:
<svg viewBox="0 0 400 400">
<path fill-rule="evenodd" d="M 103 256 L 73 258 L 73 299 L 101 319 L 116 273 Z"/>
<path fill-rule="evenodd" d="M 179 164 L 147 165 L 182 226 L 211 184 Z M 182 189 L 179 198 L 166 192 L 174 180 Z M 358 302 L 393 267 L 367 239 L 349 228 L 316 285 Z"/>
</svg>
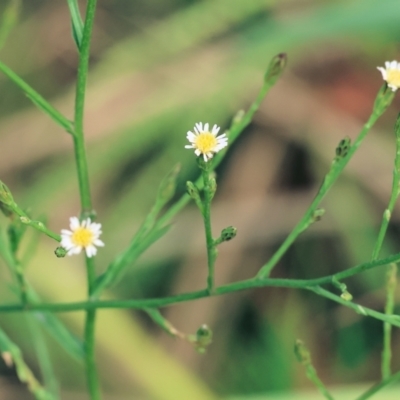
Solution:
<svg viewBox="0 0 400 400">
<path fill-rule="evenodd" d="M 395 305 L 395 291 L 396 291 L 396 277 L 397 277 L 397 265 L 392 263 L 388 267 L 387 281 L 386 281 L 386 304 L 385 314 L 392 315 Z M 382 350 L 382 380 L 388 379 L 391 375 L 390 362 L 392 359 L 391 349 L 392 339 L 392 325 L 384 322 L 383 323 L 383 350 Z"/>
</svg>

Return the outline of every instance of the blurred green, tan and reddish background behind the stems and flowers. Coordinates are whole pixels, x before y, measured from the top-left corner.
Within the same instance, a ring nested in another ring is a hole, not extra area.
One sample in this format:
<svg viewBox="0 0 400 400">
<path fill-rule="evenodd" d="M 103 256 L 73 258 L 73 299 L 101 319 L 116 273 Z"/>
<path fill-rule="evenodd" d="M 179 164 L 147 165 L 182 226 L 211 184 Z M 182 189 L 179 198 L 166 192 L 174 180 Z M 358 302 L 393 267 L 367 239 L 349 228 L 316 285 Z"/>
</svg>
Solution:
<svg viewBox="0 0 400 400">
<path fill-rule="evenodd" d="M 7 3 L 0 3 L 0 16 Z M 255 98 L 269 60 L 286 52 L 287 71 L 217 170 L 214 233 L 238 228 L 235 240 L 220 248 L 217 283 L 254 276 L 306 210 L 337 143 L 354 138 L 368 118 L 382 85 L 376 67 L 398 59 L 399 40 L 398 0 L 99 0 L 85 122 L 91 190 L 106 243 L 96 257 L 98 272 L 129 243 L 168 170 L 182 164 L 178 194 L 197 176 L 195 157 L 184 149 L 186 132 L 200 121 L 228 128 Z M 23 0 L 0 59 L 72 117 L 77 52 L 66 0 Z M 59 231 L 79 213 L 71 138 L 3 75 L 0 93 L 0 178 L 22 207 Z M 370 259 L 391 189 L 399 106 L 395 99 L 324 201 L 323 220 L 301 236 L 273 276 L 319 277 Z M 7 220 L 0 217 L 0 224 L 4 231 Z M 396 211 L 382 255 L 398 251 L 399 232 Z M 109 296 L 204 288 L 203 235 L 191 204 Z M 37 248 L 27 274 L 40 295 L 54 302 L 83 299 L 82 259 L 56 259 L 50 239 L 33 233 L 28 239 L 26 246 L 37 242 Z M 0 265 L 1 301 L 15 302 Z M 384 276 L 379 268 L 349 280 L 355 301 L 382 311 Z M 354 399 L 380 377 L 382 324 L 311 293 L 265 288 L 162 313 L 183 332 L 208 324 L 213 344 L 200 355 L 142 313 L 101 311 L 97 348 L 106 398 L 322 398 L 295 360 L 297 338 L 338 399 Z M 59 318 L 82 334 L 83 313 Z M 0 323 L 40 376 L 27 321 L 10 314 Z M 83 365 L 44 334 L 63 398 L 86 398 Z M 400 368 L 399 349 L 396 329 L 393 370 Z M 1 398 L 31 398 L 15 392 L 22 389 L 13 371 L 4 365 L 1 371 Z M 376 398 L 396 399 L 395 393 L 389 388 Z"/>
</svg>

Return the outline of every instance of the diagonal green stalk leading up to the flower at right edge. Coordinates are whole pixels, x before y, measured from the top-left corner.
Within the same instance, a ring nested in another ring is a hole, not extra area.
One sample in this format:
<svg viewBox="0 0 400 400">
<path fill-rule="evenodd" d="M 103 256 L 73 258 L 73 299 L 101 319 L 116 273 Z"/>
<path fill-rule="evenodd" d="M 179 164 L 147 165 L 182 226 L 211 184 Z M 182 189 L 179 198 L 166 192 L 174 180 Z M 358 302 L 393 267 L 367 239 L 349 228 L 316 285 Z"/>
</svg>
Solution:
<svg viewBox="0 0 400 400">
<path fill-rule="evenodd" d="M 256 277 L 258 279 L 262 279 L 262 278 L 265 278 L 266 276 L 269 276 L 272 269 L 279 262 L 279 260 L 286 253 L 286 251 L 293 244 L 293 242 L 297 239 L 297 237 L 302 232 L 304 232 L 313 222 L 313 214 L 316 211 L 319 203 L 325 197 L 325 195 L 328 193 L 329 189 L 333 186 L 333 184 L 336 182 L 336 179 L 339 177 L 339 175 L 342 173 L 342 171 L 346 167 L 347 163 L 350 161 L 351 157 L 357 151 L 358 147 L 361 145 L 362 141 L 364 140 L 367 133 L 371 130 L 372 126 L 375 124 L 375 122 L 379 119 L 379 117 L 386 110 L 387 105 L 384 109 L 377 107 L 378 100 L 380 97 L 382 97 L 382 91 L 383 90 L 381 89 L 381 91 L 378 93 L 377 99 L 375 100 L 375 106 L 374 106 L 373 112 L 370 115 L 370 117 L 368 118 L 368 121 L 366 122 L 366 124 L 363 126 L 358 137 L 354 141 L 354 144 L 349 148 L 348 153 L 343 158 L 334 160 L 329 172 L 326 174 L 326 176 L 322 182 L 322 185 L 321 185 L 317 195 L 315 196 L 314 200 L 312 201 L 311 205 L 309 206 L 309 208 L 307 209 L 307 211 L 305 212 L 305 214 L 303 215 L 301 220 L 297 223 L 297 225 L 294 227 L 294 229 L 290 232 L 290 234 L 285 239 L 285 241 L 281 244 L 279 249 L 271 257 L 271 259 L 265 265 L 263 265 L 261 267 L 260 271 L 256 275 Z M 393 97 L 392 97 L 392 99 L 393 99 Z M 379 105 L 380 104 L 378 104 L 378 106 Z"/>
</svg>

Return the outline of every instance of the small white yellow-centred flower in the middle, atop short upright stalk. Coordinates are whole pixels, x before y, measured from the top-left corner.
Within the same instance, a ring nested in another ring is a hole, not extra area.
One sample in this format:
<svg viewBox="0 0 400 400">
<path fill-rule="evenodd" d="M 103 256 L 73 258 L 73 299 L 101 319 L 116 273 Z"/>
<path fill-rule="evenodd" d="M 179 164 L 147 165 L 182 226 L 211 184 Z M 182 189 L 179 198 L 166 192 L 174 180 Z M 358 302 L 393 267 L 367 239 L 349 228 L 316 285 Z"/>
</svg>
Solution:
<svg viewBox="0 0 400 400">
<path fill-rule="evenodd" d="M 228 146 L 228 138 L 225 133 L 217 136 L 219 129 L 219 126 L 214 125 L 210 132 L 208 123 L 203 127 L 203 124 L 198 122 L 194 127 L 194 133 L 192 131 L 187 133 L 186 138 L 191 144 L 185 148 L 195 149 L 196 156 L 203 154 L 204 161 L 207 162 L 215 153 Z"/>
</svg>

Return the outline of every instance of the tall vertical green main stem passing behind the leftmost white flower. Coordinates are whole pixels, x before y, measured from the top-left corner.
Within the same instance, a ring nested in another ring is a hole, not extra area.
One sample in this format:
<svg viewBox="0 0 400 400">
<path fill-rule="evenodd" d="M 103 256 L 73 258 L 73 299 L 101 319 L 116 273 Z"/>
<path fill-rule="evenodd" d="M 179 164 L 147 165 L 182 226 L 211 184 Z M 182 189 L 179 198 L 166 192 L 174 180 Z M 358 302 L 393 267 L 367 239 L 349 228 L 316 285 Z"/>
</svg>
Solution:
<svg viewBox="0 0 400 400">
<path fill-rule="evenodd" d="M 81 218 L 93 216 L 89 186 L 89 172 L 85 151 L 83 119 L 85 108 L 86 83 L 89 70 L 90 41 L 92 37 L 96 4 L 97 0 L 88 0 L 87 2 L 82 42 L 79 47 L 79 65 L 75 93 L 75 135 L 73 139 L 76 167 L 78 172 L 79 193 L 81 199 Z M 88 297 L 90 299 L 94 288 L 96 272 L 93 259 L 90 259 L 88 257 L 86 257 L 86 274 Z M 96 310 L 87 310 L 84 333 L 86 379 L 91 400 L 100 400 L 100 383 L 95 362 L 95 324 Z"/>
</svg>

